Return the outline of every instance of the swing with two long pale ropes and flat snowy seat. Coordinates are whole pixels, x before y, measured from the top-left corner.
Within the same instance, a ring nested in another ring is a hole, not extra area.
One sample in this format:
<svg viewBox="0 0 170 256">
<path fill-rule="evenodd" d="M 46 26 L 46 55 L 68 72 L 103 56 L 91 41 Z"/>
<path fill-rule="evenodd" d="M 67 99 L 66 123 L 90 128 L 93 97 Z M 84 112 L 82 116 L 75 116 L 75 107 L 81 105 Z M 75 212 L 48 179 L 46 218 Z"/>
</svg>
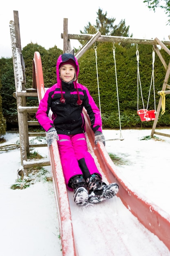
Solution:
<svg viewBox="0 0 170 256">
<path fill-rule="evenodd" d="M 97 74 L 97 88 L 98 88 L 98 96 L 99 96 L 99 110 L 101 115 L 101 104 L 100 104 L 100 92 L 99 92 L 99 77 L 98 77 L 98 68 L 97 68 L 97 46 L 95 45 L 93 47 L 95 50 L 95 60 L 96 60 L 96 74 Z M 117 71 L 116 71 L 116 58 L 115 58 L 115 42 L 113 42 L 113 59 L 115 63 L 115 77 L 116 77 L 116 91 L 117 91 L 117 105 L 118 105 L 118 112 L 119 112 L 119 131 L 120 131 L 120 137 L 115 139 L 106 139 L 106 141 L 111 140 L 124 140 L 121 134 L 121 119 L 120 119 L 120 108 L 119 108 L 119 93 L 118 93 L 118 84 L 117 84 Z M 102 116 L 102 115 L 101 115 Z"/>
</svg>

